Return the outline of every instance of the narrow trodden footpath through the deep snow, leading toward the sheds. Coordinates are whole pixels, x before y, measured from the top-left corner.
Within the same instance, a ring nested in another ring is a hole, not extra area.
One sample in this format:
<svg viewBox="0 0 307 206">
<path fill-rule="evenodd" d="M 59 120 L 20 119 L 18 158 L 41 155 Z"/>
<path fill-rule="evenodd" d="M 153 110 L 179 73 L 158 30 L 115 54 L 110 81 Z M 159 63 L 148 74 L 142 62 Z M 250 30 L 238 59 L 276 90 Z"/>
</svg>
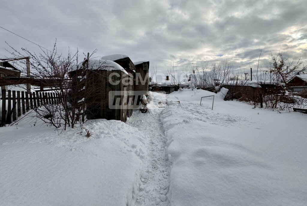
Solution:
<svg viewBox="0 0 307 206">
<path fill-rule="evenodd" d="M 170 205 L 166 196 L 169 191 L 170 162 L 165 146 L 167 140 L 160 121 L 161 111 L 162 109 L 152 109 L 145 114 L 137 111 L 126 122 L 144 131 L 148 137 L 148 156 L 144 159 L 136 206 Z"/>
</svg>

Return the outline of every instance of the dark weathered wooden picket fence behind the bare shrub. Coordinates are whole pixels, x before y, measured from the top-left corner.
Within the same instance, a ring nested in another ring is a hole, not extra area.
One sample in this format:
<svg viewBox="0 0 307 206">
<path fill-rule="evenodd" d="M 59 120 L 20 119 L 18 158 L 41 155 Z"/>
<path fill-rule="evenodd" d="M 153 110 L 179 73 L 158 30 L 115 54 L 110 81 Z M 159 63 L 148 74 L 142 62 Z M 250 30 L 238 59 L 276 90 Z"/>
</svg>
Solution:
<svg viewBox="0 0 307 206">
<path fill-rule="evenodd" d="M 62 96 L 55 92 L 24 92 L 14 90 L 2 90 L 2 119 L 0 127 L 12 123 L 17 116 L 25 114 L 30 109 L 41 105 L 54 105 L 61 102 Z M 7 104 L 7 105 L 6 105 Z"/>
</svg>

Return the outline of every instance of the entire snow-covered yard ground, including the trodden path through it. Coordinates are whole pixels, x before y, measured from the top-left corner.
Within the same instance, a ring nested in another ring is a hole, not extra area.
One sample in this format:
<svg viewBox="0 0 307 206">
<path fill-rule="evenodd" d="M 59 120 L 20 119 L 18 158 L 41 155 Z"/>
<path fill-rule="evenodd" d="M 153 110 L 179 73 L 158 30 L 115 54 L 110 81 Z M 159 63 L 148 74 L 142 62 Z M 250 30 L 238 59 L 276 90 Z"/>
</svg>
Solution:
<svg viewBox="0 0 307 206">
<path fill-rule="evenodd" d="M 150 92 L 126 123 L 0 128 L 0 205 L 307 205 L 307 115 L 222 98 Z"/>
</svg>

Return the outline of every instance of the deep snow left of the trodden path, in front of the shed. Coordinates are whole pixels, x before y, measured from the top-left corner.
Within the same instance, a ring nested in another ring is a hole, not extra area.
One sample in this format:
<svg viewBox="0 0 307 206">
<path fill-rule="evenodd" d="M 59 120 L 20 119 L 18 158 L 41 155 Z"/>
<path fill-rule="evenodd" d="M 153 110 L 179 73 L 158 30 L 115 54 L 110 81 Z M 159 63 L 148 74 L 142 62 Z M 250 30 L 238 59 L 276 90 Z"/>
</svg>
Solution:
<svg viewBox="0 0 307 206">
<path fill-rule="evenodd" d="M 31 123 L 0 128 L 1 205 L 134 205 L 144 133 L 97 120 L 58 136 Z"/>
</svg>

